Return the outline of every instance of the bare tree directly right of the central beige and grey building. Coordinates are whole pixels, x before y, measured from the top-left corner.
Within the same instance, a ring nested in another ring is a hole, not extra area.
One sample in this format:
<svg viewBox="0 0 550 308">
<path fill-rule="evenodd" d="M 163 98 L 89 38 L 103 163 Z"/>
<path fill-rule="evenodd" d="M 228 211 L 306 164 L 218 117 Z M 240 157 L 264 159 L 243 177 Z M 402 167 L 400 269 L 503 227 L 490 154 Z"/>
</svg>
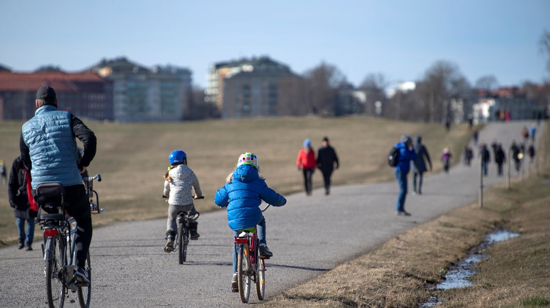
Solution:
<svg viewBox="0 0 550 308">
<path fill-rule="evenodd" d="M 310 98 L 310 111 L 314 114 L 333 115 L 338 89 L 346 85 L 344 74 L 336 66 L 321 62 L 304 75 Z"/>
</svg>

